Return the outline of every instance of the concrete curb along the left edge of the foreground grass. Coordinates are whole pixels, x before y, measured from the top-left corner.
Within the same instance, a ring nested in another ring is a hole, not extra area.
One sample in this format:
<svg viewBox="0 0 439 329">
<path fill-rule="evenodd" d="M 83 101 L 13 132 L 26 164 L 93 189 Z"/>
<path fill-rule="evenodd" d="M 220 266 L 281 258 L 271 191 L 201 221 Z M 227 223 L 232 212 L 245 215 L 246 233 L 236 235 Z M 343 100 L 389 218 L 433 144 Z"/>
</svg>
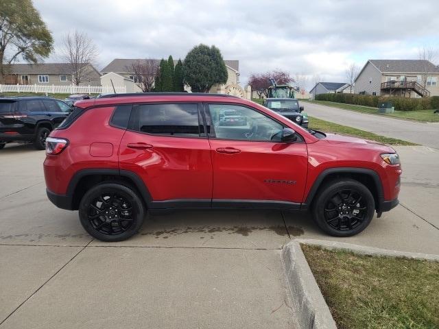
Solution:
<svg viewBox="0 0 439 329">
<path fill-rule="evenodd" d="M 337 329 L 299 243 L 287 243 L 282 249 L 281 258 L 289 299 L 299 328 Z"/>
</svg>

